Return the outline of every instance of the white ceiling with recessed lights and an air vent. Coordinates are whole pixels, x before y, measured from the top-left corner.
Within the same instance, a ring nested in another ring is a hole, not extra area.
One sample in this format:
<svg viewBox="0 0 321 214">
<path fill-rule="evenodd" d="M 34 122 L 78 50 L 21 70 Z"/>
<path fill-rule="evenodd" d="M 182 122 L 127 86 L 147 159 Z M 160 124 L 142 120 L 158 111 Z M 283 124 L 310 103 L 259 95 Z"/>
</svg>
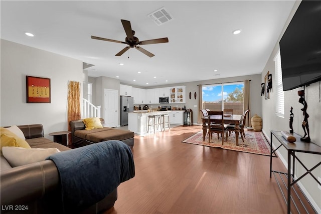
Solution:
<svg viewBox="0 0 321 214">
<path fill-rule="evenodd" d="M 150 87 L 260 74 L 294 1 L 1 1 L 0 4 L 2 39 L 93 64 L 87 69 L 90 77 L 119 76 L 121 83 Z M 173 20 L 158 26 L 147 15 L 163 7 Z M 125 44 L 90 38 L 93 35 L 124 41 L 121 19 L 131 22 L 140 41 L 168 37 L 169 43 L 142 46 L 155 55 L 152 58 L 136 49 L 116 57 Z M 241 34 L 233 35 L 236 29 L 242 29 Z M 35 37 L 26 36 L 26 32 Z"/>
</svg>

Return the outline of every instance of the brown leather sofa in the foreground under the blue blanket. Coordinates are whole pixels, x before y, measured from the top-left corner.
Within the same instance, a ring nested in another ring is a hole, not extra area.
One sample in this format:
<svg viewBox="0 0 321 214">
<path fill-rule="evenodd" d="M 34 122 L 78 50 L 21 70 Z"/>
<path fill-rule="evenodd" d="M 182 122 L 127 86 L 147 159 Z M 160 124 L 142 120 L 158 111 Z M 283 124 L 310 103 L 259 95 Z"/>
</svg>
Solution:
<svg viewBox="0 0 321 214">
<path fill-rule="evenodd" d="M 32 148 L 70 148 L 44 138 L 41 124 L 18 126 Z M 75 175 L 76 176 L 76 175 Z M 11 167 L 1 154 L 1 213 L 63 213 L 59 173 L 52 160 Z M 117 188 L 81 213 L 98 213 L 111 208 Z"/>
</svg>

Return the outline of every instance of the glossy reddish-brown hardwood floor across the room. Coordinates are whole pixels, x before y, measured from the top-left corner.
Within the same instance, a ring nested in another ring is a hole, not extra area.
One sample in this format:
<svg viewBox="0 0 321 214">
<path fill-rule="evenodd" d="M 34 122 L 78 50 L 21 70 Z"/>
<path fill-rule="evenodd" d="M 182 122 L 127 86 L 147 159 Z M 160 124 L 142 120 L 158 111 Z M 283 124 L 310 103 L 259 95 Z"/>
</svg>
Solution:
<svg viewBox="0 0 321 214">
<path fill-rule="evenodd" d="M 135 136 L 135 177 L 119 185 L 104 213 L 286 213 L 269 156 L 181 142 L 201 130 L 178 126 Z M 273 169 L 285 171 L 279 158 Z"/>
</svg>

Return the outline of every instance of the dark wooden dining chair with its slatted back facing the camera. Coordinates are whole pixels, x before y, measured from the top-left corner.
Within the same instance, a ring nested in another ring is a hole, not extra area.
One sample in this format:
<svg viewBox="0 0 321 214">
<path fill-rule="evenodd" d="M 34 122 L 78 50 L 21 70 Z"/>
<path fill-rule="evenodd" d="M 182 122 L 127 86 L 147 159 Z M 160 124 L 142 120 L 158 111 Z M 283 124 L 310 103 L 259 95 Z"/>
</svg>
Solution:
<svg viewBox="0 0 321 214">
<path fill-rule="evenodd" d="M 217 133 L 217 139 L 219 134 L 222 134 L 222 145 L 224 143 L 224 134 L 227 141 L 228 129 L 224 127 L 223 111 L 208 111 L 208 130 L 209 130 L 209 143 L 213 139 L 213 132 Z"/>
</svg>

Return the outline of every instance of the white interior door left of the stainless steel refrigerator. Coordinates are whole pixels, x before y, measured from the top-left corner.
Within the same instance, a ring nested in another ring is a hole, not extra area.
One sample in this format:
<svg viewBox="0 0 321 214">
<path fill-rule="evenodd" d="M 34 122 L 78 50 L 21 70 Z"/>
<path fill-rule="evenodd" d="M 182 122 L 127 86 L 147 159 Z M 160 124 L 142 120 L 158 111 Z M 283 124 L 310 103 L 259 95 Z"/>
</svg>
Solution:
<svg viewBox="0 0 321 214">
<path fill-rule="evenodd" d="M 118 91 L 105 89 L 104 120 L 106 127 L 118 126 Z"/>
</svg>

